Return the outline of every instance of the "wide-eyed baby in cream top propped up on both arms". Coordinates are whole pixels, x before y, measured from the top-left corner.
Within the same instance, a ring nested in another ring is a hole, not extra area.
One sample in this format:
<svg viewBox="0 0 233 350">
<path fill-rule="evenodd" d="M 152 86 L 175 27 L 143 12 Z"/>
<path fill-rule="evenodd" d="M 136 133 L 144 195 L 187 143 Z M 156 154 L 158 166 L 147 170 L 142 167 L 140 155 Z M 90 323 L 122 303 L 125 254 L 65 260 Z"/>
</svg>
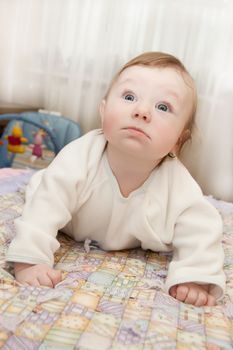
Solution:
<svg viewBox="0 0 233 350">
<path fill-rule="evenodd" d="M 64 147 L 37 172 L 7 260 L 22 284 L 54 287 L 58 230 L 105 250 L 173 251 L 172 297 L 215 305 L 225 288 L 222 222 L 178 160 L 196 110 L 194 82 L 174 56 L 144 53 L 113 79 L 101 130 Z"/>
</svg>

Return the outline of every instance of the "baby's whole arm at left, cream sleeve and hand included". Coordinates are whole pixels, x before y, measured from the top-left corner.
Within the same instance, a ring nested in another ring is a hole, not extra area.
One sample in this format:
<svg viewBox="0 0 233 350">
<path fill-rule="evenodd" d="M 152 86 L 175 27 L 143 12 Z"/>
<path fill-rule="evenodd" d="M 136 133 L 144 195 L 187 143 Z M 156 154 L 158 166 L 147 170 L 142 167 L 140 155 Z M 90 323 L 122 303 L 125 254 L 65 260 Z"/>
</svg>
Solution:
<svg viewBox="0 0 233 350">
<path fill-rule="evenodd" d="M 6 261 L 15 262 L 18 281 L 57 283 L 59 272 L 52 269 L 60 246 L 57 232 L 81 207 L 84 186 L 94 179 L 105 144 L 98 130 L 87 133 L 66 145 L 46 169 L 31 178 L 23 213 L 15 221 L 16 236 L 6 253 Z"/>
</svg>

